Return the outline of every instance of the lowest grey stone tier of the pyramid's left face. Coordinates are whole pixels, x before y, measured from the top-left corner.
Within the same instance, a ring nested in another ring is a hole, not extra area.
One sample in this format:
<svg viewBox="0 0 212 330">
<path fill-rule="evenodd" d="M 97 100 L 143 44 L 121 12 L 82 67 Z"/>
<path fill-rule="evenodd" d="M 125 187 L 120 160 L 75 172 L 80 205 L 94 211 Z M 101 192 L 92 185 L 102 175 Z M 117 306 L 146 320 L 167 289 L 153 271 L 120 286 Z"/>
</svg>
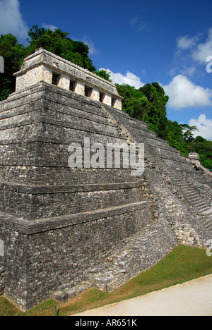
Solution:
<svg viewBox="0 0 212 330">
<path fill-rule="evenodd" d="M 0 219 L 0 238 L 6 238 L 4 293 L 26 310 L 52 291 L 83 281 L 104 253 L 141 231 L 152 214 L 148 202 L 139 202 L 49 221 L 5 219 L 4 214 Z"/>
</svg>

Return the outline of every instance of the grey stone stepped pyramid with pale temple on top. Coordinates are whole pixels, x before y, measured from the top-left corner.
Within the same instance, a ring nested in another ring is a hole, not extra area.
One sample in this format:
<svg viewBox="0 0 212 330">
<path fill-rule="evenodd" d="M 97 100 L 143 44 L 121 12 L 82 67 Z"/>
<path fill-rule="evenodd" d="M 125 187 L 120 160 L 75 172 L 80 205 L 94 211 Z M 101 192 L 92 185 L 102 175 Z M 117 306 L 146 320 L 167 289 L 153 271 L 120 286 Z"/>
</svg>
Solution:
<svg viewBox="0 0 212 330">
<path fill-rule="evenodd" d="M 144 144 L 144 173 L 70 167 L 85 138 Z M 45 49 L 0 102 L 0 146 L 0 288 L 22 310 L 58 291 L 113 290 L 177 244 L 212 238 L 211 176 L 124 114 L 111 82 Z"/>
</svg>

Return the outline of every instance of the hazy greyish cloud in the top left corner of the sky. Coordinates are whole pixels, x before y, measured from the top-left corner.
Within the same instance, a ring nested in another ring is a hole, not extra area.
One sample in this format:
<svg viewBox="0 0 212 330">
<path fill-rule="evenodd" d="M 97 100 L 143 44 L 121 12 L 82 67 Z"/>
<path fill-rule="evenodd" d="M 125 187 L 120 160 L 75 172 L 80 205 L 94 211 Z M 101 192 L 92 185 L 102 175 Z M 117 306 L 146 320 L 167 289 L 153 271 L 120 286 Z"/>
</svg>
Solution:
<svg viewBox="0 0 212 330">
<path fill-rule="evenodd" d="M 28 37 L 28 26 L 20 13 L 18 0 L 0 0 L 0 35 L 12 33 L 16 37 Z"/>
</svg>

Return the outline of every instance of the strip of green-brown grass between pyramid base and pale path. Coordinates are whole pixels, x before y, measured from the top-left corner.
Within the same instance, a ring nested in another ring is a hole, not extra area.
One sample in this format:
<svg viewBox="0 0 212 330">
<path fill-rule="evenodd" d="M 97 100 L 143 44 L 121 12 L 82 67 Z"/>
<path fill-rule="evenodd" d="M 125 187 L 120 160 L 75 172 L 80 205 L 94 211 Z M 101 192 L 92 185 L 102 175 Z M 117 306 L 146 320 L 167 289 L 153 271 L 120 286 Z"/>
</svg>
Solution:
<svg viewBox="0 0 212 330">
<path fill-rule="evenodd" d="M 90 288 L 66 303 L 47 300 L 27 312 L 20 311 L 4 296 L 1 296 L 0 316 L 54 316 L 55 306 L 57 306 L 57 310 L 59 309 L 59 316 L 76 314 L 139 295 L 146 295 L 208 274 L 212 274 L 212 257 L 206 255 L 206 250 L 179 245 L 158 264 L 143 271 L 112 293 Z"/>
</svg>

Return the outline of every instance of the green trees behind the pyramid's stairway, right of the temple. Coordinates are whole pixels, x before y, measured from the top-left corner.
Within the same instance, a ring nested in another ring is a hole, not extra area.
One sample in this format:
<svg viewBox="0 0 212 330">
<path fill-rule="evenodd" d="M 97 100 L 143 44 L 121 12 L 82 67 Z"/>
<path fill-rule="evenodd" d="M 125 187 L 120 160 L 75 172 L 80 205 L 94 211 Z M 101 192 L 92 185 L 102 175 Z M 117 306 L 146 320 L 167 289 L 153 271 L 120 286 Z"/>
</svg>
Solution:
<svg viewBox="0 0 212 330">
<path fill-rule="evenodd" d="M 119 94 L 124 97 L 122 108 L 129 116 L 148 123 L 148 128 L 153 130 L 158 138 L 167 140 L 170 147 L 179 150 L 182 155 L 188 156 L 189 152 L 197 152 L 201 164 L 212 169 L 212 142 L 201 136 L 194 138 L 194 133 L 198 131 L 196 126 L 179 124 L 167 118 L 168 97 L 158 82 L 148 83 L 139 90 L 130 85 L 116 86 Z"/>
</svg>

